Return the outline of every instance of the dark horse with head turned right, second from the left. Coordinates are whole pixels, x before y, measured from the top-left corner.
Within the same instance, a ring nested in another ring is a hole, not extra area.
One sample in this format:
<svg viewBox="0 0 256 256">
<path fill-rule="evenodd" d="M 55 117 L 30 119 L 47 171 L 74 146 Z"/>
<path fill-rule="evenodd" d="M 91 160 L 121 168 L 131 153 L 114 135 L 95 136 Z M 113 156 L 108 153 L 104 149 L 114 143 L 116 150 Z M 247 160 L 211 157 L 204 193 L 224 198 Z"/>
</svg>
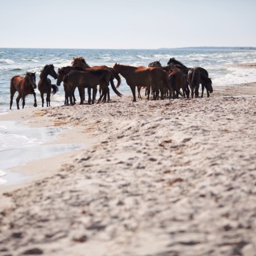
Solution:
<svg viewBox="0 0 256 256">
<path fill-rule="evenodd" d="M 38 90 L 41 94 L 42 107 L 44 106 L 44 93 L 46 93 L 46 103 L 47 107 L 51 102 L 51 93 L 52 95 L 56 94 L 59 91 L 56 85 L 52 85 L 52 82 L 47 75 L 51 75 L 54 79 L 57 79 L 57 73 L 54 70 L 54 65 L 49 64 L 45 65 L 43 70 L 41 70 L 39 81 L 38 81 Z M 51 91 L 52 90 L 52 91 Z"/>
</svg>

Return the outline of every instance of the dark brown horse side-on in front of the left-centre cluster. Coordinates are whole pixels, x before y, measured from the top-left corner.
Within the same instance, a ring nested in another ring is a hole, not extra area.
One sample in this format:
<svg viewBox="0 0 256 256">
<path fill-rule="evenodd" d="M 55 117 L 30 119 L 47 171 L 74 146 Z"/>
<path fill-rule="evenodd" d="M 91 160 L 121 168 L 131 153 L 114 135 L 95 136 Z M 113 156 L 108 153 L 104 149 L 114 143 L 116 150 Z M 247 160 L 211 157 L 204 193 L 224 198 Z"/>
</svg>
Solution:
<svg viewBox="0 0 256 256">
<path fill-rule="evenodd" d="M 102 97 L 104 96 L 104 102 L 106 100 L 107 88 L 109 83 L 111 83 L 112 88 L 115 88 L 112 75 L 107 68 L 93 69 L 90 68 L 88 71 L 77 71 L 73 70 L 64 78 L 64 82 L 67 84 L 68 96 L 70 97 L 70 104 L 73 104 L 72 93 L 75 91 L 75 88 L 78 87 L 91 87 L 93 89 L 97 88 L 97 85 L 100 85 L 102 88 L 102 95 L 99 97 L 97 103 L 101 102 Z M 122 94 L 118 93 L 118 96 Z"/>
</svg>

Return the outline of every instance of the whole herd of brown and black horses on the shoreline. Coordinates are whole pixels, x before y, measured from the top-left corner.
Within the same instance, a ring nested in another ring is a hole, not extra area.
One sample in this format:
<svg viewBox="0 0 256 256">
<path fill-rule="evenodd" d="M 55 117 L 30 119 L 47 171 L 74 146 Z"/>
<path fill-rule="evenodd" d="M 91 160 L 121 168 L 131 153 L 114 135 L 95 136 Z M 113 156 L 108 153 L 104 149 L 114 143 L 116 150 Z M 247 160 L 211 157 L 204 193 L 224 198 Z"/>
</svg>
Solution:
<svg viewBox="0 0 256 256">
<path fill-rule="evenodd" d="M 54 65 L 45 65 L 41 70 L 38 90 L 41 94 L 42 107 L 44 106 L 44 94 L 46 94 L 47 107 L 50 106 L 51 94 L 56 94 L 60 83 L 64 83 L 65 104 L 75 104 L 75 89 L 78 88 L 80 95 L 80 104 L 85 101 L 85 88 L 88 89 L 88 104 L 96 100 L 97 86 L 99 85 L 100 97 L 97 103 L 109 101 L 109 83 L 114 93 L 121 97 L 122 94 L 117 90 L 121 84 L 120 75 L 125 78 L 126 83 L 133 93 L 133 101 L 136 101 L 136 88 L 138 97 L 141 98 L 141 88 L 146 89 L 147 99 L 150 95 L 154 100 L 164 99 L 164 97 L 178 98 L 179 95 L 188 97 L 191 91 L 191 97 L 199 97 L 199 85 L 202 85 L 202 95 L 204 88 L 207 91 L 207 97 L 213 92 L 212 80 L 209 78 L 207 70 L 202 67 L 188 68 L 175 58 L 171 58 L 166 66 L 162 66 L 160 61 L 151 62 L 148 67 L 133 67 L 130 65 L 115 64 L 114 67 L 105 65 L 89 67 L 83 57 L 75 57 L 72 65 L 54 70 Z M 51 75 L 57 79 L 57 85 L 52 85 L 51 80 L 47 78 Z M 117 80 L 117 86 L 114 85 L 114 79 Z M 33 72 L 27 72 L 25 76 L 16 75 L 10 80 L 10 109 L 16 91 L 17 109 L 19 101 L 22 98 L 22 108 L 25 106 L 25 96 L 33 94 L 36 104 L 36 75 Z M 91 96 L 93 90 L 93 96 Z M 181 94 L 182 90 L 183 94 Z"/>
</svg>

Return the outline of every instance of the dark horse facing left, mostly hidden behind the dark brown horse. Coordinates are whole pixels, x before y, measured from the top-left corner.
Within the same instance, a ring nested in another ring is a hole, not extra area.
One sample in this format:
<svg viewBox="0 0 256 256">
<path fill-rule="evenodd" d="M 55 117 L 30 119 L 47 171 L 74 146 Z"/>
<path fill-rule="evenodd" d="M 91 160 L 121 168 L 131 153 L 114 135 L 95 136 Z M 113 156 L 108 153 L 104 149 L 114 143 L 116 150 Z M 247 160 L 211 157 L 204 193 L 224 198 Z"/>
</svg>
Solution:
<svg viewBox="0 0 256 256">
<path fill-rule="evenodd" d="M 80 67 L 67 66 L 67 67 L 58 68 L 57 86 L 60 86 L 60 83 L 62 81 L 64 83 L 65 75 L 67 75 L 69 72 L 71 72 L 73 70 L 85 71 L 84 68 L 80 68 Z M 68 91 L 67 91 L 67 85 L 65 83 L 64 83 L 64 91 L 65 91 L 65 102 L 64 102 L 64 104 L 68 105 L 68 95 L 67 95 Z M 85 88 L 78 87 L 78 91 L 79 91 L 80 105 L 81 105 L 85 101 Z M 72 95 L 72 101 L 75 104 L 75 102 L 76 102 L 75 93 L 73 93 L 73 95 Z M 93 103 L 94 103 L 94 101 L 93 101 Z M 89 87 L 88 87 L 88 104 L 91 104 L 91 88 L 89 88 Z"/>
</svg>

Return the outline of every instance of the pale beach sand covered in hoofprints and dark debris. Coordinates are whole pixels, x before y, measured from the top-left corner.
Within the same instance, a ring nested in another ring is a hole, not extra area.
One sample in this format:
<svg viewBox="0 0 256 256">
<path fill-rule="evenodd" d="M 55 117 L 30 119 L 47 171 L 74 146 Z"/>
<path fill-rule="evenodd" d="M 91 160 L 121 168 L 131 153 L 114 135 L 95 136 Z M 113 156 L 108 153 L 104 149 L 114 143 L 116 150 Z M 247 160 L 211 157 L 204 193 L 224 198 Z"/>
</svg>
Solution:
<svg viewBox="0 0 256 256">
<path fill-rule="evenodd" d="M 2 190 L 0 255 L 255 255 L 256 85 L 214 89 L 1 117 L 88 147 Z"/>
</svg>

